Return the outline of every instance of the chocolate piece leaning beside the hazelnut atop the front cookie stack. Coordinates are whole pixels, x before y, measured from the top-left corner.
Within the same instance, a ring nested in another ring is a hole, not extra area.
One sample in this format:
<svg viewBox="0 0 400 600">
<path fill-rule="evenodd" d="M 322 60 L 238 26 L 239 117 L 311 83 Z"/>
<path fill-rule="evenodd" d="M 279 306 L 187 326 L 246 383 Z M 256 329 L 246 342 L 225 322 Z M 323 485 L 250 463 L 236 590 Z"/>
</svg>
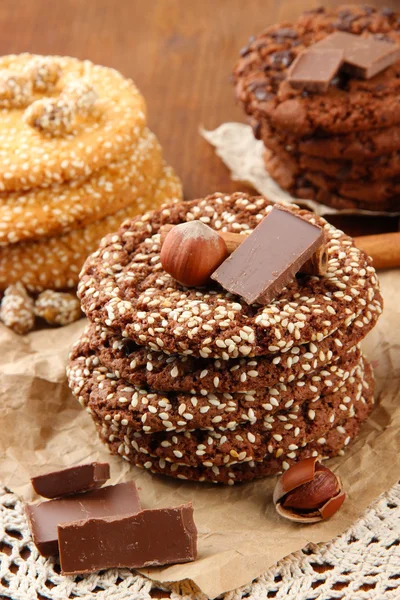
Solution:
<svg viewBox="0 0 400 600">
<path fill-rule="evenodd" d="M 268 304 L 323 241 L 321 227 L 276 205 L 211 279 L 248 304 Z"/>
</svg>

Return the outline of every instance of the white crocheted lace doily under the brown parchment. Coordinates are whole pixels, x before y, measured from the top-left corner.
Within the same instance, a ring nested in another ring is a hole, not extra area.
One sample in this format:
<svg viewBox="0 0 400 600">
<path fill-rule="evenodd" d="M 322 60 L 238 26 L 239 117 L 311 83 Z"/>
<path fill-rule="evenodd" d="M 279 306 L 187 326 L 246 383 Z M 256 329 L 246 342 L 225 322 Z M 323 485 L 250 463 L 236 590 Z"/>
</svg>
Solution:
<svg viewBox="0 0 400 600">
<path fill-rule="evenodd" d="M 164 593 L 159 590 L 164 590 Z M 157 586 L 128 569 L 63 577 L 32 542 L 23 503 L 0 487 L 0 600 L 205 600 L 190 582 Z M 224 600 L 399 600 L 400 484 L 343 535 L 310 544 Z"/>
</svg>

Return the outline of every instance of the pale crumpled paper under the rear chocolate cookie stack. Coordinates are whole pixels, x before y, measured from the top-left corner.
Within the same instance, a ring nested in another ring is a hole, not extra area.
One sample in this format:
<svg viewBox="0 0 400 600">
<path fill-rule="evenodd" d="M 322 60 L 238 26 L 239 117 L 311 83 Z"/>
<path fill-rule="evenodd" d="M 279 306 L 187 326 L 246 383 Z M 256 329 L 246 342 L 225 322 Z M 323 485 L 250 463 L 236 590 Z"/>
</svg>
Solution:
<svg viewBox="0 0 400 600">
<path fill-rule="evenodd" d="M 256 140 L 250 125 L 243 123 L 223 123 L 213 131 L 200 129 L 201 135 L 212 146 L 216 154 L 222 159 L 231 171 L 234 181 L 249 184 L 260 194 L 266 196 L 272 202 L 301 203 L 320 216 L 337 214 L 360 214 L 360 215 L 390 215 L 395 213 L 378 212 L 370 210 L 357 210 L 346 208 L 337 210 L 325 206 L 313 200 L 298 200 L 282 190 L 274 181 L 265 168 L 263 154 L 265 146 L 261 140 Z M 396 213 L 396 214 L 400 214 Z"/>
</svg>

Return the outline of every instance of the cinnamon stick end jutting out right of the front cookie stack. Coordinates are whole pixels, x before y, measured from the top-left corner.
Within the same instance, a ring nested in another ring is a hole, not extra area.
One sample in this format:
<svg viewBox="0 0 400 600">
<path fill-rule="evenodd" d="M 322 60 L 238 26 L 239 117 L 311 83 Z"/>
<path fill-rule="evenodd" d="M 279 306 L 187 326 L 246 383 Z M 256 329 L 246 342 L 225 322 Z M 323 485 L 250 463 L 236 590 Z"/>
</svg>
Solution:
<svg viewBox="0 0 400 600">
<path fill-rule="evenodd" d="M 375 269 L 400 267 L 400 233 L 379 233 L 354 238 L 357 248 L 371 256 Z"/>
</svg>

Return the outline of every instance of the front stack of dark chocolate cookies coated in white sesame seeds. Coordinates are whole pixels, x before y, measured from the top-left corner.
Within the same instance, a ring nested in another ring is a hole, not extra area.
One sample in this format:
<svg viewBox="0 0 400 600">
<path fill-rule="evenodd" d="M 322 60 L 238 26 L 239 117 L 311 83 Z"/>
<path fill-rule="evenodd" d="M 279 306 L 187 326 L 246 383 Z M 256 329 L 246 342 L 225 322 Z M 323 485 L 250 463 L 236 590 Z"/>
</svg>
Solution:
<svg viewBox="0 0 400 600">
<path fill-rule="evenodd" d="M 69 385 L 111 452 L 153 472 L 227 484 L 341 454 L 373 406 L 359 344 L 382 298 L 371 260 L 324 219 L 328 271 L 265 306 L 216 283 L 187 288 L 160 262 L 160 228 L 200 220 L 243 235 L 273 205 L 243 193 L 176 203 L 125 223 L 86 261 L 89 325 Z M 268 257 L 265 257 L 268 260 Z"/>
</svg>

